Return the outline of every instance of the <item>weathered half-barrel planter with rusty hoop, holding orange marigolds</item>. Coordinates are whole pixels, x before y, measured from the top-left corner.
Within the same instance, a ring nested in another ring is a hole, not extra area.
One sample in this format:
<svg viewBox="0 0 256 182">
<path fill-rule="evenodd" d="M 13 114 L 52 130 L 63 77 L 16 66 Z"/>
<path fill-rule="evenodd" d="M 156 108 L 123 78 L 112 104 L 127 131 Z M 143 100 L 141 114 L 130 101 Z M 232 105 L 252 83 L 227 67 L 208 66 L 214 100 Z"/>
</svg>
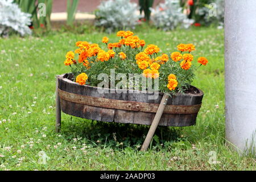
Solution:
<svg viewBox="0 0 256 182">
<path fill-rule="evenodd" d="M 98 89 L 107 92 L 99 93 Z M 57 77 L 60 109 L 64 113 L 104 122 L 151 125 L 163 93 L 159 93 L 156 100 L 148 100 L 150 94 L 147 92 L 127 90 L 126 93 L 120 93 L 118 91 L 120 90 L 79 85 L 69 80 L 68 74 Z M 191 86 L 191 92 L 170 97 L 159 125 L 195 125 L 203 96 L 204 93 L 200 89 Z"/>
</svg>

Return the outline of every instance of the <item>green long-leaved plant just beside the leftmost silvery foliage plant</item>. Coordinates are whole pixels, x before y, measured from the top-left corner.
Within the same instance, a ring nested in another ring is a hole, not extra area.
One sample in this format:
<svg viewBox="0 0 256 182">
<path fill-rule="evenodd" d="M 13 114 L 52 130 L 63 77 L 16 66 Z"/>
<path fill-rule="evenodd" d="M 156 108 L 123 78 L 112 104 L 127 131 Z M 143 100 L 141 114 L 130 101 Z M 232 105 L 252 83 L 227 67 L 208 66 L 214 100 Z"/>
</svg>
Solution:
<svg viewBox="0 0 256 182">
<path fill-rule="evenodd" d="M 31 28 L 46 27 L 51 28 L 52 0 L 14 0 L 20 9 L 32 15 Z"/>
</svg>

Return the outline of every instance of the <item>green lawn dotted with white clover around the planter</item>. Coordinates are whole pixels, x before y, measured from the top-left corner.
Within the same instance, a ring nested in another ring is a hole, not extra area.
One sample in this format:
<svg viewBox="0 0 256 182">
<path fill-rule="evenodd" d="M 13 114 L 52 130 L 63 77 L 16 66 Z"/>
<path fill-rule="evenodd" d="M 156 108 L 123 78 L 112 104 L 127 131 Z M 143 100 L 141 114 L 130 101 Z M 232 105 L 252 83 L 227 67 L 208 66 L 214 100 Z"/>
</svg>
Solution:
<svg viewBox="0 0 256 182">
<path fill-rule="evenodd" d="M 65 53 L 75 42 L 101 43 L 104 33 L 51 33 L 0 39 L 0 170 L 253 170 L 255 158 L 225 145 L 224 31 L 196 28 L 134 31 L 170 54 L 193 43 L 195 59 L 209 59 L 193 82 L 205 96 L 191 127 L 158 127 L 150 149 L 140 152 L 149 127 L 71 117 L 62 113 L 55 133 L 55 75 L 69 72 Z M 118 40 L 115 34 L 107 35 Z M 39 164 L 39 152 L 49 157 Z M 214 152 L 211 152 L 214 151 Z M 216 152 L 216 153 L 215 153 Z M 216 162 L 211 154 L 216 154 Z"/>
</svg>

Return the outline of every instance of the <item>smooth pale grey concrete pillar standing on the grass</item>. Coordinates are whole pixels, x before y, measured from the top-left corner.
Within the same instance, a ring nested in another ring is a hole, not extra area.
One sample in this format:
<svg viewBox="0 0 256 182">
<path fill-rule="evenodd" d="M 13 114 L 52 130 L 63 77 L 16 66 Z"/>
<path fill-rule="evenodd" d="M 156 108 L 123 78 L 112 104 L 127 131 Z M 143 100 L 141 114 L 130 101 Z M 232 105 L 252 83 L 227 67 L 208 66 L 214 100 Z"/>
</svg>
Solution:
<svg viewBox="0 0 256 182">
<path fill-rule="evenodd" d="M 225 94 L 226 139 L 255 154 L 255 0 L 225 0 Z"/>
</svg>

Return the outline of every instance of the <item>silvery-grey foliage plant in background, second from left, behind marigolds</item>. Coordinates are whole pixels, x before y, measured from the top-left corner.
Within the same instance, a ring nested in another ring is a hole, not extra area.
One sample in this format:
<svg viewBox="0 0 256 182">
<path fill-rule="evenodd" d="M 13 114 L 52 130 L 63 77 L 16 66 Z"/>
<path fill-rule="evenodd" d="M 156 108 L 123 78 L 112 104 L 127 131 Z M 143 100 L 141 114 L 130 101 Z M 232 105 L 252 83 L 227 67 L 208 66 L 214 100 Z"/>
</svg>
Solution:
<svg viewBox="0 0 256 182">
<path fill-rule="evenodd" d="M 102 1 L 96 11 L 96 26 L 103 26 L 112 32 L 115 28 L 135 28 L 141 17 L 137 14 L 139 7 L 128 0 Z"/>
</svg>

